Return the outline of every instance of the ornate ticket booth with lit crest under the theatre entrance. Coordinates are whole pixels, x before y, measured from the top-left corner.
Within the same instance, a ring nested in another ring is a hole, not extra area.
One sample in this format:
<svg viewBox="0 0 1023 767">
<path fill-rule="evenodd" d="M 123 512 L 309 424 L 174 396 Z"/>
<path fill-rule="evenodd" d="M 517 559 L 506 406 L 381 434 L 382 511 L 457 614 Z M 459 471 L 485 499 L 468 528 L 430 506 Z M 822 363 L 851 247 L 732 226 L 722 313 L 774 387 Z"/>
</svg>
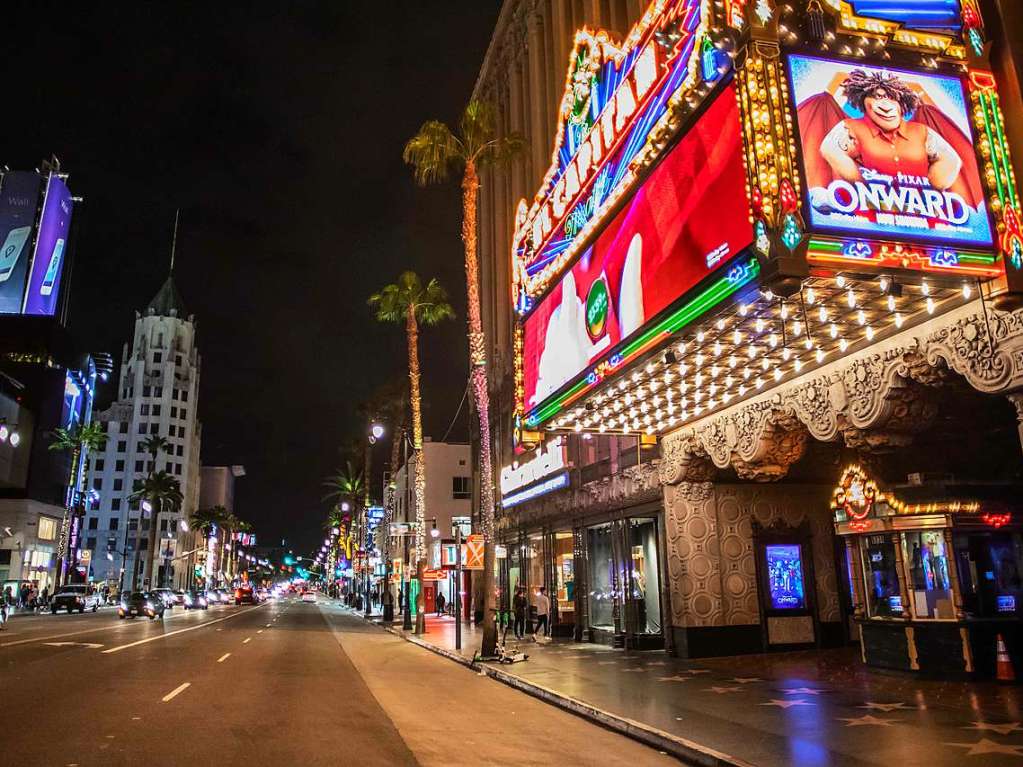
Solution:
<svg viewBox="0 0 1023 767">
<path fill-rule="evenodd" d="M 870 666 L 993 676 L 1002 636 L 1023 651 L 1018 486 L 885 492 L 858 466 L 835 489 L 855 621 Z"/>
</svg>

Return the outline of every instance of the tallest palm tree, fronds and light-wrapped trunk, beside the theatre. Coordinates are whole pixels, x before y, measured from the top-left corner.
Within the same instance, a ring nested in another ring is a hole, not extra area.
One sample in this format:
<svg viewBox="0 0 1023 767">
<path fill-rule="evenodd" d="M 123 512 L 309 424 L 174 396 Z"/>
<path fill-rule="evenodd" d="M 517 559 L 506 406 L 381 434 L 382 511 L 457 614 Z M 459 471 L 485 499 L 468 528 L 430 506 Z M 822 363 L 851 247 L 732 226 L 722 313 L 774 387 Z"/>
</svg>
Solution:
<svg viewBox="0 0 1023 767">
<path fill-rule="evenodd" d="M 469 297 L 469 359 L 473 399 L 480 423 L 480 521 L 483 528 L 483 653 L 493 655 L 497 644 L 494 622 L 494 491 L 490 452 L 490 402 L 487 391 L 487 346 L 480 318 L 480 275 L 477 258 L 476 206 L 479 172 L 504 165 L 522 152 L 526 140 L 519 133 L 498 135 L 491 104 L 470 101 L 455 134 L 444 123 L 431 120 L 405 144 L 404 160 L 412 166 L 421 185 L 445 181 L 461 169 L 461 241 L 465 251 L 465 289 Z"/>
</svg>

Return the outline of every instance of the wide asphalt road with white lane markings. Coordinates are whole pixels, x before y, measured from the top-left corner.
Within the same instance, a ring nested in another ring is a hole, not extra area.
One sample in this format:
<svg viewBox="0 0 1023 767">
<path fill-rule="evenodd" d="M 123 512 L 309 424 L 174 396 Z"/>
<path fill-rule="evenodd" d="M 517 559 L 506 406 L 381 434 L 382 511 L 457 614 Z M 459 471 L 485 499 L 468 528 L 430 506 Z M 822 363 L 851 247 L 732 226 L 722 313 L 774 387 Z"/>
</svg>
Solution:
<svg viewBox="0 0 1023 767">
<path fill-rule="evenodd" d="M 331 603 L 16 617 L 0 764 L 647 765 L 667 757 Z"/>
</svg>

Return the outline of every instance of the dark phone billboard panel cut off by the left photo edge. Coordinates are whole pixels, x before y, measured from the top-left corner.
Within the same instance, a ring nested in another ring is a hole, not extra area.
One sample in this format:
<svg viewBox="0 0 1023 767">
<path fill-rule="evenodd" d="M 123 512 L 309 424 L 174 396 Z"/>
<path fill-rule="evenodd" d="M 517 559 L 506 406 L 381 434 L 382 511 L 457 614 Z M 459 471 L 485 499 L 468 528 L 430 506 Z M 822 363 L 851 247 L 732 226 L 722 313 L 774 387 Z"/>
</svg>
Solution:
<svg viewBox="0 0 1023 767">
<path fill-rule="evenodd" d="M 5 173 L 0 181 L 0 314 L 21 313 L 41 185 L 38 173 Z"/>
</svg>

